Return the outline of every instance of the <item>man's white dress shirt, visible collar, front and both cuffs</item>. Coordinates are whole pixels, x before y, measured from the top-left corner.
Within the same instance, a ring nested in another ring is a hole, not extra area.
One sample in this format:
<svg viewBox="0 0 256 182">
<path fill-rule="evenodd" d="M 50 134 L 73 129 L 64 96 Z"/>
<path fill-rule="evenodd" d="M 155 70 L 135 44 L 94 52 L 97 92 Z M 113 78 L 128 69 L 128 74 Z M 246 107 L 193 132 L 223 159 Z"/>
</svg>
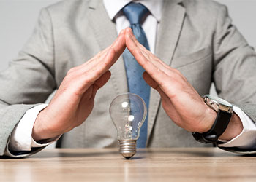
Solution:
<svg viewBox="0 0 256 182">
<path fill-rule="evenodd" d="M 108 12 L 108 16 L 111 20 L 116 22 L 116 31 L 120 31 L 124 28 L 129 27 L 129 21 L 123 15 L 120 10 L 130 2 L 131 0 L 103 0 L 105 8 Z M 154 53 L 156 39 L 157 39 L 157 29 L 159 27 L 159 22 L 162 15 L 163 0 L 147 0 L 147 1 L 136 1 L 143 4 L 151 12 L 146 20 L 143 22 L 142 27 L 146 33 L 148 39 L 148 45 L 152 53 Z M 47 146 L 50 143 L 39 144 L 33 140 L 31 137 L 34 122 L 43 108 L 47 105 L 40 105 L 26 111 L 26 114 L 20 120 L 20 122 L 15 127 L 12 132 L 9 149 L 12 151 L 30 151 L 31 147 L 42 147 Z M 240 135 L 233 138 L 231 141 L 219 145 L 223 147 L 239 147 L 244 149 L 254 148 L 256 146 L 256 126 L 252 120 L 241 111 L 240 108 L 234 107 L 234 112 L 240 117 L 244 130 Z M 58 140 L 58 138 L 53 138 L 52 142 Z M 52 143 L 51 142 L 51 143 Z"/>
</svg>

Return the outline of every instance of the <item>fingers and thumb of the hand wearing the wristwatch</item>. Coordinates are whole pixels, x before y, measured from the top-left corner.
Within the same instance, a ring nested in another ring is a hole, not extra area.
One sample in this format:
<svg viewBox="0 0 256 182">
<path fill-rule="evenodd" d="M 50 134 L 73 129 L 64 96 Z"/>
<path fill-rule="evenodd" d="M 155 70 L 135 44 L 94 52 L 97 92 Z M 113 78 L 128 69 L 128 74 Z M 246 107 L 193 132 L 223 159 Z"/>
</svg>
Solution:
<svg viewBox="0 0 256 182">
<path fill-rule="evenodd" d="M 165 95 L 173 98 L 177 93 L 176 91 L 180 90 L 183 84 L 187 84 L 187 79 L 179 71 L 167 66 L 162 60 L 146 50 L 135 39 L 130 28 L 126 29 L 125 38 L 127 48 L 148 74 L 144 75 L 144 79 L 151 87 L 161 88 Z"/>
</svg>

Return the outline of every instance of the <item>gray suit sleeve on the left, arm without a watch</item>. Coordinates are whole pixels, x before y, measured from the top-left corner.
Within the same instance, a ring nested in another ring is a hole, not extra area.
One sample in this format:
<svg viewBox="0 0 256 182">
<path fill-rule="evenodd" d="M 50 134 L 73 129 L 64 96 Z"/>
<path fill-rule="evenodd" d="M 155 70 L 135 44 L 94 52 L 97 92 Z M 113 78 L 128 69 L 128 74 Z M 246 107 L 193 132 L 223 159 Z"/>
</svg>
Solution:
<svg viewBox="0 0 256 182">
<path fill-rule="evenodd" d="M 33 35 L 0 74 L 0 156 L 17 157 L 7 149 L 12 130 L 26 111 L 44 103 L 56 89 L 53 39 L 50 14 L 42 9 Z M 18 156 L 24 155 L 21 152 Z"/>
</svg>

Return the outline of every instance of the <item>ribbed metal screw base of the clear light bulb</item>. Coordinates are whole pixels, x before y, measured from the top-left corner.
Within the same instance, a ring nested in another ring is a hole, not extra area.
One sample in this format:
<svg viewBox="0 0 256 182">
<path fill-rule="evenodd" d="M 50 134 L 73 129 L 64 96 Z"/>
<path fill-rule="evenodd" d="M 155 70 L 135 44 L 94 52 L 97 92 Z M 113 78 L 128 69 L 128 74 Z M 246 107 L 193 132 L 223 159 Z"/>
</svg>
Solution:
<svg viewBox="0 0 256 182">
<path fill-rule="evenodd" d="M 136 154 L 136 140 L 132 139 L 124 139 L 119 140 L 120 144 L 120 154 L 125 157 L 125 159 L 130 159 L 132 156 Z"/>
</svg>

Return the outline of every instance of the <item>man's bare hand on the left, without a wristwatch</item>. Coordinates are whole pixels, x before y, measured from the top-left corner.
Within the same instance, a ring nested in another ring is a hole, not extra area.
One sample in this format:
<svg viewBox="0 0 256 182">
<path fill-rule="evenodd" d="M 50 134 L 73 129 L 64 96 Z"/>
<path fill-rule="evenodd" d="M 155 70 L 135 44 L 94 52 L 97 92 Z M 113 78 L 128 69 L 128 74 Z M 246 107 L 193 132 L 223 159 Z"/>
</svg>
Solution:
<svg viewBox="0 0 256 182">
<path fill-rule="evenodd" d="M 126 47 L 124 31 L 110 47 L 80 66 L 71 68 L 47 108 L 37 116 L 35 141 L 55 138 L 82 124 L 91 114 L 97 90 L 110 79 L 109 68 Z"/>
</svg>

